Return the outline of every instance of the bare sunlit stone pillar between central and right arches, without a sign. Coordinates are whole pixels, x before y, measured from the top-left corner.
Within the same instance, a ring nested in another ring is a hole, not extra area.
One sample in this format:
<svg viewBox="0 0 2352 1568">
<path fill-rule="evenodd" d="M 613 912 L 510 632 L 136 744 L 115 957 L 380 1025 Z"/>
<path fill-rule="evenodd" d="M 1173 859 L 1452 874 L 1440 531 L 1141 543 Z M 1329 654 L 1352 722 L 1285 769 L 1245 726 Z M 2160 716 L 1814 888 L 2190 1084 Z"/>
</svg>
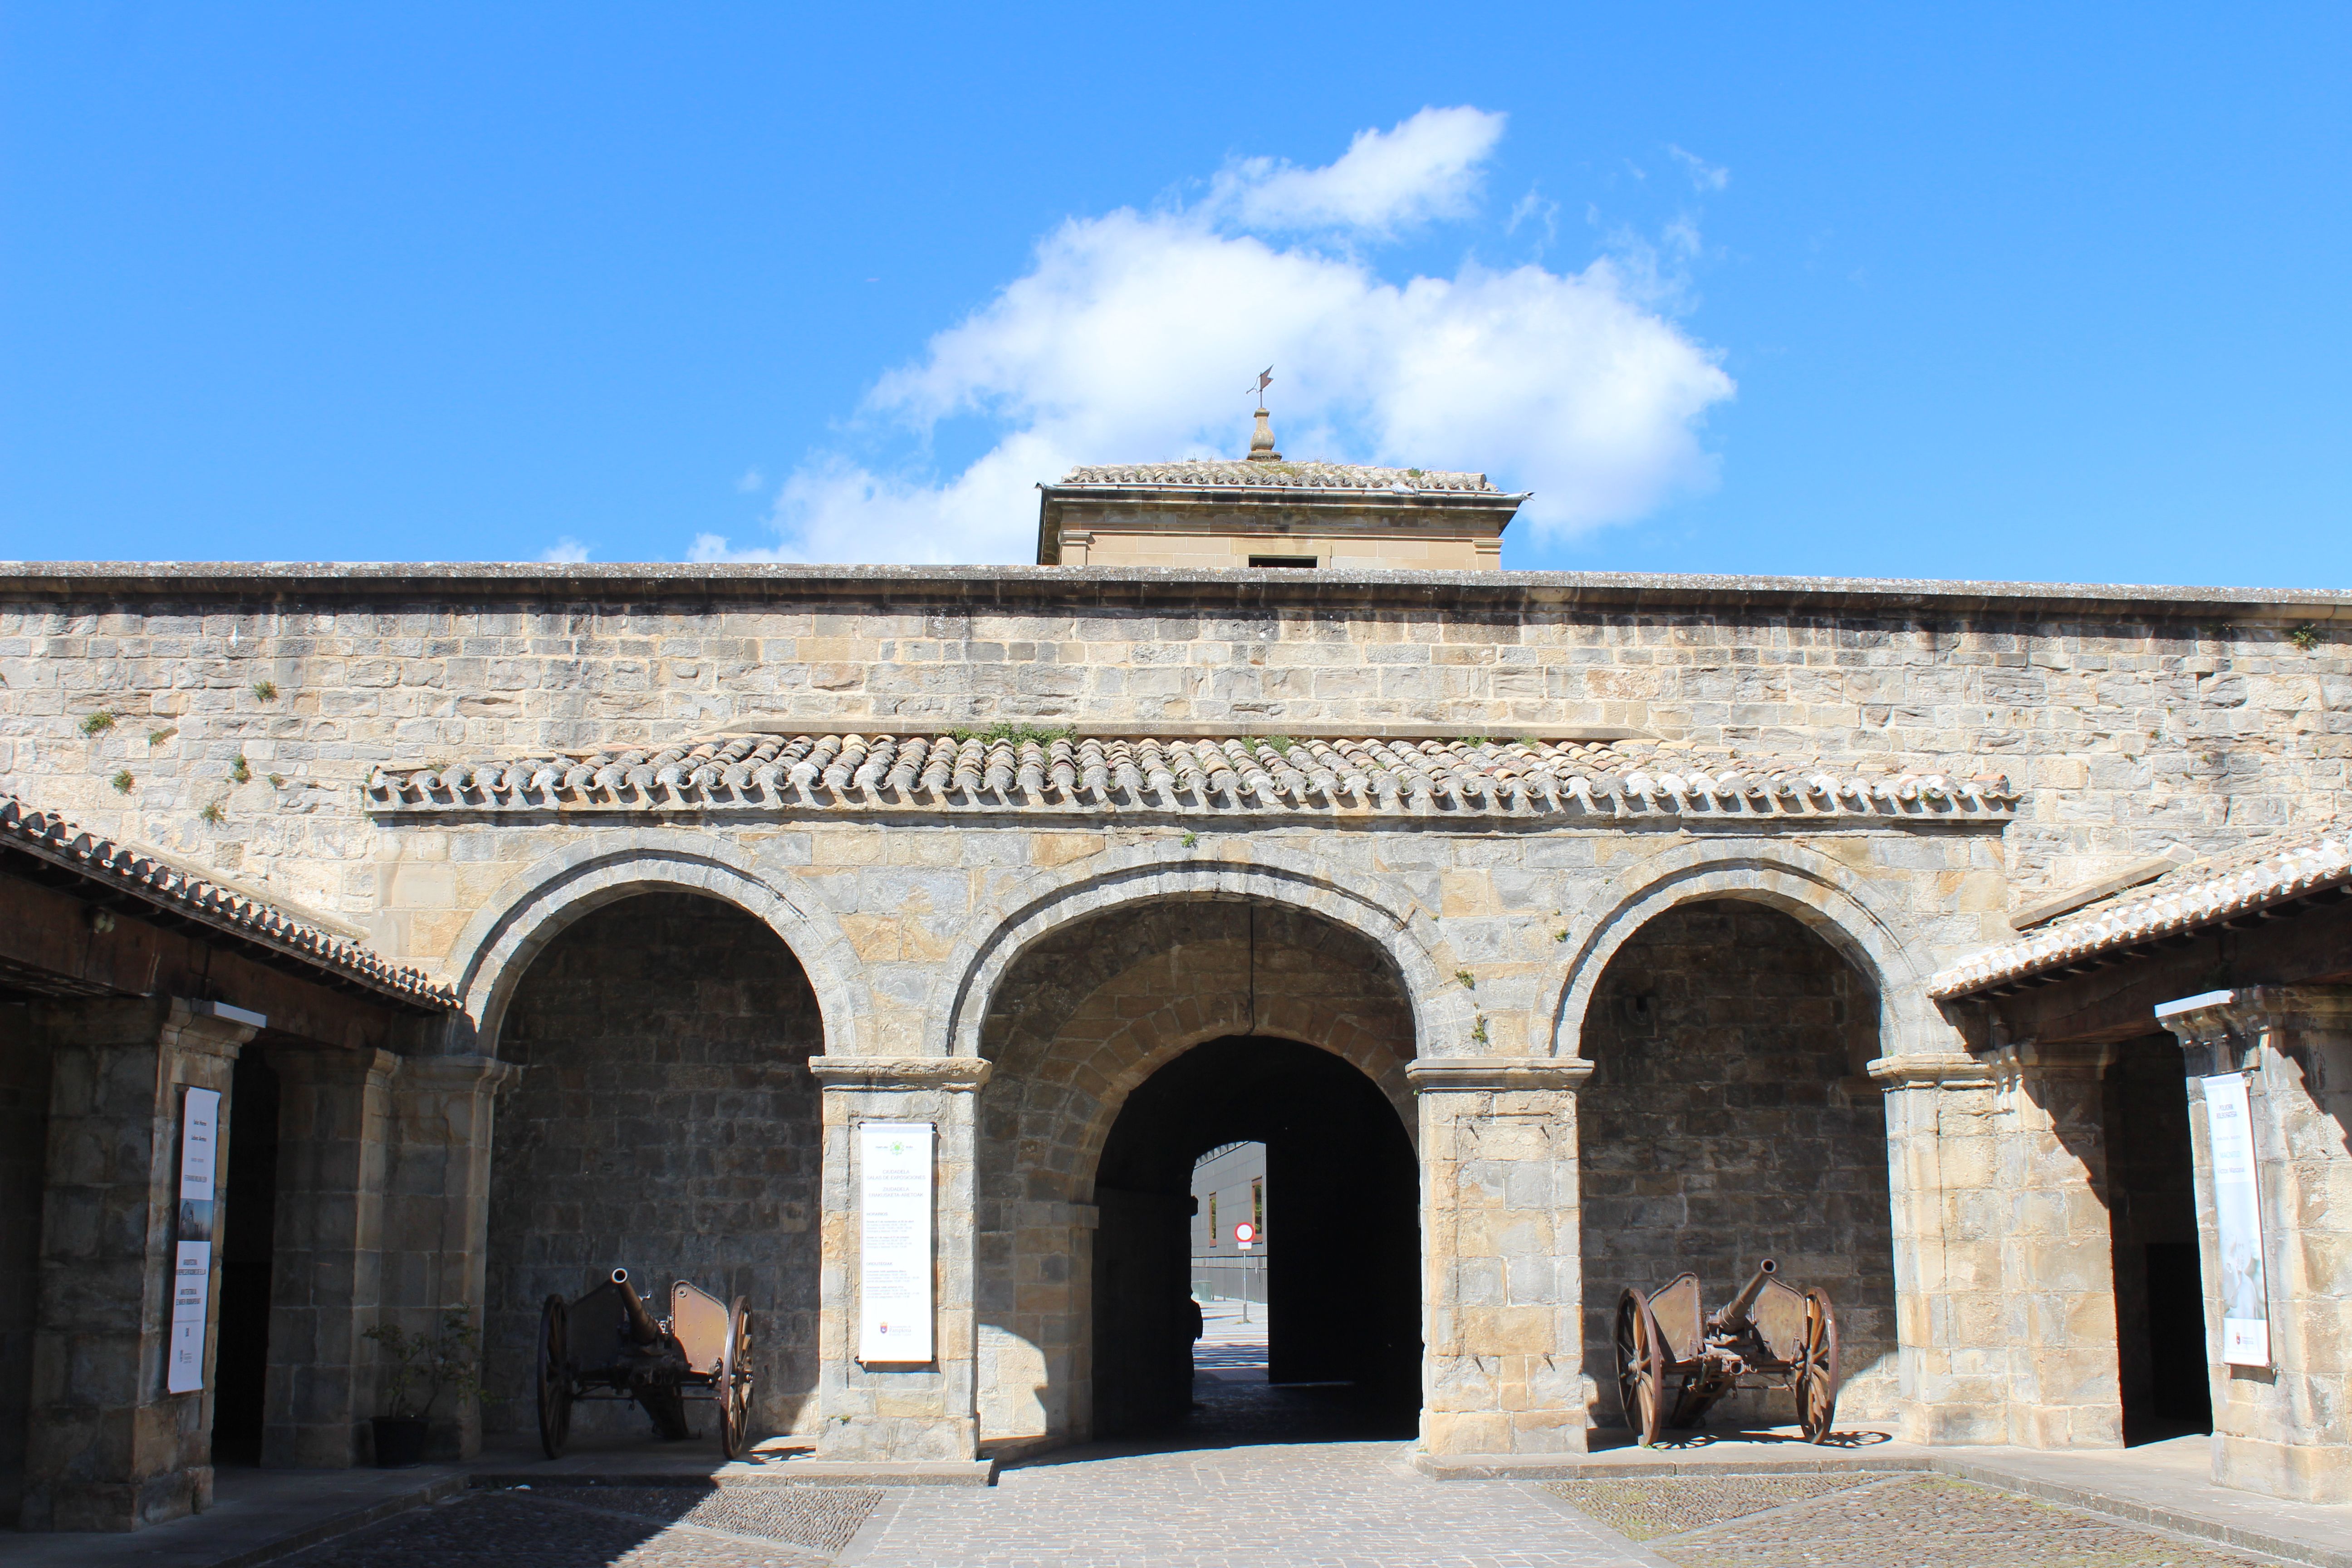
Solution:
<svg viewBox="0 0 2352 1568">
<path fill-rule="evenodd" d="M 1428 1453 L 1583 1453 L 1583 1058 L 1435 1058 L 1421 1095 Z"/>
</svg>

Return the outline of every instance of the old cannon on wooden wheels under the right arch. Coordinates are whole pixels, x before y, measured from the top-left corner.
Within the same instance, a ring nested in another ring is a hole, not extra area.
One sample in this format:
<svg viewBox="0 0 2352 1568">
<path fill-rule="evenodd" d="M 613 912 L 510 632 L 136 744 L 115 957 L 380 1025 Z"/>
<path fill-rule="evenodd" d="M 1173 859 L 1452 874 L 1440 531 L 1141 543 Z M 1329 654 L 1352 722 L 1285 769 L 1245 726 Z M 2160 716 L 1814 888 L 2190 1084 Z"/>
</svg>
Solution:
<svg viewBox="0 0 2352 1568">
<path fill-rule="evenodd" d="M 1736 1387 L 1797 1396 L 1804 1441 L 1837 1420 L 1837 1309 L 1820 1286 L 1799 1291 L 1766 1258 L 1722 1312 L 1698 1302 L 1698 1274 L 1677 1274 L 1644 1295 L 1628 1288 L 1616 1316 L 1618 1399 L 1642 1446 L 1663 1427 L 1689 1429 Z"/>
</svg>

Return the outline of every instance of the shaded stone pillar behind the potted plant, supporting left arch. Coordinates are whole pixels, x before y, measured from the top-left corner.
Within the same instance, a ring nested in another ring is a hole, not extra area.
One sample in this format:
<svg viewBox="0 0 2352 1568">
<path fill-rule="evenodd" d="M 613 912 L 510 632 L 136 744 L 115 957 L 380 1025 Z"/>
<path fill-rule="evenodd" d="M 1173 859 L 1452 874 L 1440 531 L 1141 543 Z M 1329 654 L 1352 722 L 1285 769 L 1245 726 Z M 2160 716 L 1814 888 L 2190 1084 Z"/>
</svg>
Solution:
<svg viewBox="0 0 2352 1568">
<path fill-rule="evenodd" d="M 430 1335 L 442 1307 L 466 1307 L 482 1326 L 492 1112 L 499 1086 L 517 1072 L 494 1056 L 409 1056 L 393 1074 L 379 1324 Z M 374 1363 L 365 1382 L 374 1394 Z M 480 1408 L 445 1401 L 430 1415 L 430 1458 L 482 1450 Z"/>
</svg>

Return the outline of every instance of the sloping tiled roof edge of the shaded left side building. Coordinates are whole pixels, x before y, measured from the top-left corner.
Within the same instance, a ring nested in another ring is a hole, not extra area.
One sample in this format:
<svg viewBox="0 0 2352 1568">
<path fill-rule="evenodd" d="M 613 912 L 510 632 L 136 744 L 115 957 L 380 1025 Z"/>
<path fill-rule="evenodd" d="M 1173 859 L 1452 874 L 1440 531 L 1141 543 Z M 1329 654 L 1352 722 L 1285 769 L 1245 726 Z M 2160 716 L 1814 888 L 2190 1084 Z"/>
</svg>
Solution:
<svg viewBox="0 0 2352 1568">
<path fill-rule="evenodd" d="M 419 969 L 393 964 L 369 947 L 320 931 L 275 905 L 85 832 L 54 811 L 28 806 L 14 795 L 0 795 L 0 844 L 14 844 L 92 882 L 113 882 L 172 914 L 186 914 L 216 931 L 275 947 L 369 990 L 435 1009 L 459 1006 L 454 990 L 437 985 Z"/>
</svg>

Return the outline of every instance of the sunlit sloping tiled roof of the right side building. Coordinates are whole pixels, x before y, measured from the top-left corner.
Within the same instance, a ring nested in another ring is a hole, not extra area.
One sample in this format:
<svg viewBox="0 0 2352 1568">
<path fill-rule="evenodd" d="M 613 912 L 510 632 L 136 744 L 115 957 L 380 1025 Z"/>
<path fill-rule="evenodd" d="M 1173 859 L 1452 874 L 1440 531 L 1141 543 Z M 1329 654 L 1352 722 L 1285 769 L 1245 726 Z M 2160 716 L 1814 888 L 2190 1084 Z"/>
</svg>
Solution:
<svg viewBox="0 0 2352 1568">
<path fill-rule="evenodd" d="M 1929 994 L 1964 997 L 2345 884 L 2352 884 L 2352 832 L 2343 823 L 2270 839 L 2220 860 L 2192 860 L 2032 936 L 1962 959 L 1929 980 Z"/>
</svg>

